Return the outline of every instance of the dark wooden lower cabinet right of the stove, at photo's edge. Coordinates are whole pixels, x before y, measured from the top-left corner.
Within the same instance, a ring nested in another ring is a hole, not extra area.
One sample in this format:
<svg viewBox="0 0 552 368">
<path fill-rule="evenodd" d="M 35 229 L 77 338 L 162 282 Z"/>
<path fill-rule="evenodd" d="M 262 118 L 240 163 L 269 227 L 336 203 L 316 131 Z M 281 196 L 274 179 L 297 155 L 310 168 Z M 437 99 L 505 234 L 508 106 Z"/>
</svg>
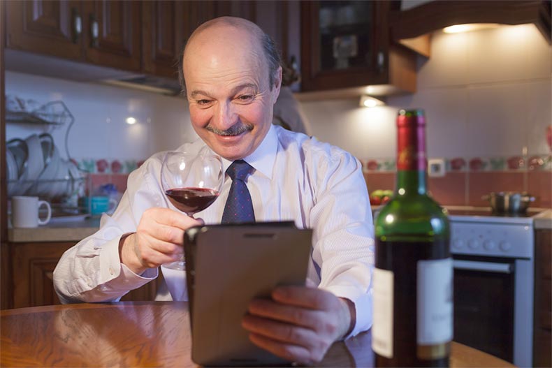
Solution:
<svg viewBox="0 0 552 368">
<path fill-rule="evenodd" d="M 533 367 L 552 366 L 552 230 L 535 230 Z"/>
</svg>

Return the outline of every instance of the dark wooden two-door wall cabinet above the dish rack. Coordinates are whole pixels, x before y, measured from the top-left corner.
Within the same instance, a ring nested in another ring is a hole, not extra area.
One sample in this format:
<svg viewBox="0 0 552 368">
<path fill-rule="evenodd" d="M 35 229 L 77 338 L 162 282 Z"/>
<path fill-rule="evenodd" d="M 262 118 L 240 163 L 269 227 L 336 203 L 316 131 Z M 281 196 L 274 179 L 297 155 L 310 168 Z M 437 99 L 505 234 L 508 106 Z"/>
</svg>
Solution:
<svg viewBox="0 0 552 368">
<path fill-rule="evenodd" d="M 140 71 L 137 1 L 6 1 L 6 47 Z"/>
</svg>

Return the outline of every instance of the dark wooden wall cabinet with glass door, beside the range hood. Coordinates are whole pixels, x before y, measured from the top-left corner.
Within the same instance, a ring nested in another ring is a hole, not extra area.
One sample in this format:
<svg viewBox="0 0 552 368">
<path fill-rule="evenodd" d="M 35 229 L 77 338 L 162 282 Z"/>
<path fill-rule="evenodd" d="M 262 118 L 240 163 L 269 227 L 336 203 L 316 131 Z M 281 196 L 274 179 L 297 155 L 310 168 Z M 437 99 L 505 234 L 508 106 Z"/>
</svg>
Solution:
<svg viewBox="0 0 552 368">
<path fill-rule="evenodd" d="M 416 91 L 416 55 L 389 38 L 388 16 L 396 6 L 394 1 L 303 1 L 302 91 L 367 85 L 386 86 L 385 94 Z"/>
</svg>

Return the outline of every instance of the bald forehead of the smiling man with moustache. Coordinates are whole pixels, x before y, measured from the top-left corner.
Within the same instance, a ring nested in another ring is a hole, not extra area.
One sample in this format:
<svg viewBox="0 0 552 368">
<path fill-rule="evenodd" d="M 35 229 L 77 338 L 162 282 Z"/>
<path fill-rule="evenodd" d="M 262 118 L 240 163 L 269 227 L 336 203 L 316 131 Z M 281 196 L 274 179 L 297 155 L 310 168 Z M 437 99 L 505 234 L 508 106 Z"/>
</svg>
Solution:
<svg viewBox="0 0 552 368">
<path fill-rule="evenodd" d="M 219 24 L 194 35 L 184 51 L 183 69 L 187 88 L 203 82 L 261 83 L 268 75 L 268 62 L 261 41 L 252 32 Z"/>
</svg>

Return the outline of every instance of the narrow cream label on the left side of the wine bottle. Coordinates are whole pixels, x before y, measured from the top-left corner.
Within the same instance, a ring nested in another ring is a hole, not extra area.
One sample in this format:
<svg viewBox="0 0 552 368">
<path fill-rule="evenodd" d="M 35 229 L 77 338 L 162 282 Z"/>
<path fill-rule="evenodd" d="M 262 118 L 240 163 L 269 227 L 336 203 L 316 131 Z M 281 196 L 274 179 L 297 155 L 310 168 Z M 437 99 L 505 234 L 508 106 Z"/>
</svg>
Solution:
<svg viewBox="0 0 552 368">
<path fill-rule="evenodd" d="M 374 269 L 372 350 L 393 358 L 393 271 Z"/>
</svg>

